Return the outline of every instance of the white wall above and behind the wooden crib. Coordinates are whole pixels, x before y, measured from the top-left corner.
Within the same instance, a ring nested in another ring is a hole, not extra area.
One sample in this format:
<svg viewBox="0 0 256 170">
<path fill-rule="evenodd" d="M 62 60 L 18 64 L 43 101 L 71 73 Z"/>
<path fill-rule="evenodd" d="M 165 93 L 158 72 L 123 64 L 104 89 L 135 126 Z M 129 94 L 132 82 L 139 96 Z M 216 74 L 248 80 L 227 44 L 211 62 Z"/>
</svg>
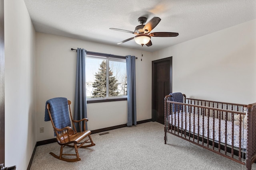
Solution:
<svg viewBox="0 0 256 170">
<path fill-rule="evenodd" d="M 256 20 L 156 51 L 153 56 L 172 56 L 173 92 L 223 102 L 256 102 Z"/>
</svg>

